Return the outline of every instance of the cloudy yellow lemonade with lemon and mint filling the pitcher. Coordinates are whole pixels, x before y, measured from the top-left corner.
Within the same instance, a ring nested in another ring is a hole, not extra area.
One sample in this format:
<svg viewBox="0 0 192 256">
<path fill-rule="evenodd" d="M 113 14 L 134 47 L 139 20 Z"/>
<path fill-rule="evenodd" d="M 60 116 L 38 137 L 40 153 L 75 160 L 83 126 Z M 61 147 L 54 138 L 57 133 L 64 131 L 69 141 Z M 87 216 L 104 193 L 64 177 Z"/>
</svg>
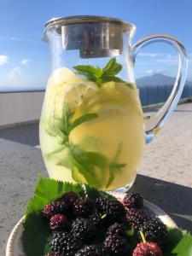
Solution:
<svg viewBox="0 0 192 256">
<path fill-rule="evenodd" d="M 82 70 L 63 67 L 49 78 L 40 121 L 45 165 L 51 178 L 117 189 L 134 180 L 143 154 L 138 90 Z"/>
</svg>

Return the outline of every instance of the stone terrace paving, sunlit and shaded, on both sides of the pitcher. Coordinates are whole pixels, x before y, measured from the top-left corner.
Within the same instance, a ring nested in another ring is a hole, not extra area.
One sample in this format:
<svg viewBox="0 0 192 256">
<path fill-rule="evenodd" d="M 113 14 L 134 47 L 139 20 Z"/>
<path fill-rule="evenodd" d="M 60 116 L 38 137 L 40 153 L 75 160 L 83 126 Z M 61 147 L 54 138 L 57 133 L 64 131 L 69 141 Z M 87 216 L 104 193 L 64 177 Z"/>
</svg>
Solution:
<svg viewBox="0 0 192 256">
<path fill-rule="evenodd" d="M 23 215 L 38 173 L 46 176 L 38 125 L 0 131 L 0 256 L 10 230 Z M 179 106 L 154 141 L 146 145 L 132 190 L 162 207 L 192 231 L 192 104 Z"/>
</svg>

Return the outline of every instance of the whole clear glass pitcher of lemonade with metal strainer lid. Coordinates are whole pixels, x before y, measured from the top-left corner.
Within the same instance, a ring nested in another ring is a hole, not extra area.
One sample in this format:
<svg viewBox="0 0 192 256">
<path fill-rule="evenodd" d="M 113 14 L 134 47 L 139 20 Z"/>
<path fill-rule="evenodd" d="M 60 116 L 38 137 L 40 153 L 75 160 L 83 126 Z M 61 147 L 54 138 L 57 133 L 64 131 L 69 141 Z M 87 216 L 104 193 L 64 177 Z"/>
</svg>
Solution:
<svg viewBox="0 0 192 256">
<path fill-rule="evenodd" d="M 42 109 L 40 145 L 49 177 L 96 189 L 129 189 L 145 143 L 165 124 L 183 91 L 187 56 L 164 34 L 132 44 L 136 26 L 100 16 L 49 20 L 52 71 Z M 153 116 L 143 118 L 133 67 L 139 49 L 163 42 L 177 51 L 172 93 Z"/>
</svg>

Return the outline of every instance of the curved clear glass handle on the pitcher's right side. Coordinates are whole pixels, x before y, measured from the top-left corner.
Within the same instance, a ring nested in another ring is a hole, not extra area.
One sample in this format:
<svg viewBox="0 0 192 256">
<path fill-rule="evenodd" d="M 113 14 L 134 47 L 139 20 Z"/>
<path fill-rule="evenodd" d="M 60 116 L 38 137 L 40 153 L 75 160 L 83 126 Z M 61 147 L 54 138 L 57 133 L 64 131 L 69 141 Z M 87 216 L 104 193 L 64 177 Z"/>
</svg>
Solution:
<svg viewBox="0 0 192 256">
<path fill-rule="evenodd" d="M 154 115 L 148 115 L 145 117 L 146 143 L 150 143 L 153 140 L 154 136 L 158 131 L 160 131 L 160 128 L 166 123 L 166 120 L 169 119 L 172 112 L 177 107 L 177 103 L 182 95 L 188 69 L 187 53 L 183 47 L 183 44 L 181 44 L 176 38 L 166 34 L 149 35 L 138 40 L 137 43 L 132 46 L 133 65 L 136 62 L 138 51 L 146 45 L 156 42 L 172 45 L 178 55 L 178 69 L 175 84 L 165 104 Z"/>
</svg>

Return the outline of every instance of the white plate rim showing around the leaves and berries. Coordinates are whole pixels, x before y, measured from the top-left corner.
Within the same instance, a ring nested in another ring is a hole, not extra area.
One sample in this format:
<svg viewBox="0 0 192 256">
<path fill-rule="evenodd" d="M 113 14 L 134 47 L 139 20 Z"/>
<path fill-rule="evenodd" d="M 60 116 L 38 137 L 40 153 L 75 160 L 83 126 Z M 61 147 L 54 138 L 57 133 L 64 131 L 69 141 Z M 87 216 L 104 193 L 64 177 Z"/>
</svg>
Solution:
<svg viewBox="0 0 192 256">
<path fill-rule="evenodd" d="M 110 193 L 117 197 L 119 201 L 123 199 L 125 194 L 119 192 L 112 192 Z M 174 223 L 172 218 L 166 214 L 166 212 L 162 211 L 159 207 L 156 207 L 154 204 L 150 203 L 149 201 L 144 201 L 144 207 L 148 209 L 148 212 L 152 217 L 158 217 L 161 221 L 169 227 L 176 227 L 177 224 Z M 20 237 L 22 234 L 22 222 L 24 218 L 21 218 L 20 221 L 15 225 L 14 230 L 12 230 L 9 240 L 6 247 L 6 256 L 26 256 L 23 252 L 22 244 L 20 241 Z M 34 255 L 35 256 L 35 255 Z"/>
</svg>

